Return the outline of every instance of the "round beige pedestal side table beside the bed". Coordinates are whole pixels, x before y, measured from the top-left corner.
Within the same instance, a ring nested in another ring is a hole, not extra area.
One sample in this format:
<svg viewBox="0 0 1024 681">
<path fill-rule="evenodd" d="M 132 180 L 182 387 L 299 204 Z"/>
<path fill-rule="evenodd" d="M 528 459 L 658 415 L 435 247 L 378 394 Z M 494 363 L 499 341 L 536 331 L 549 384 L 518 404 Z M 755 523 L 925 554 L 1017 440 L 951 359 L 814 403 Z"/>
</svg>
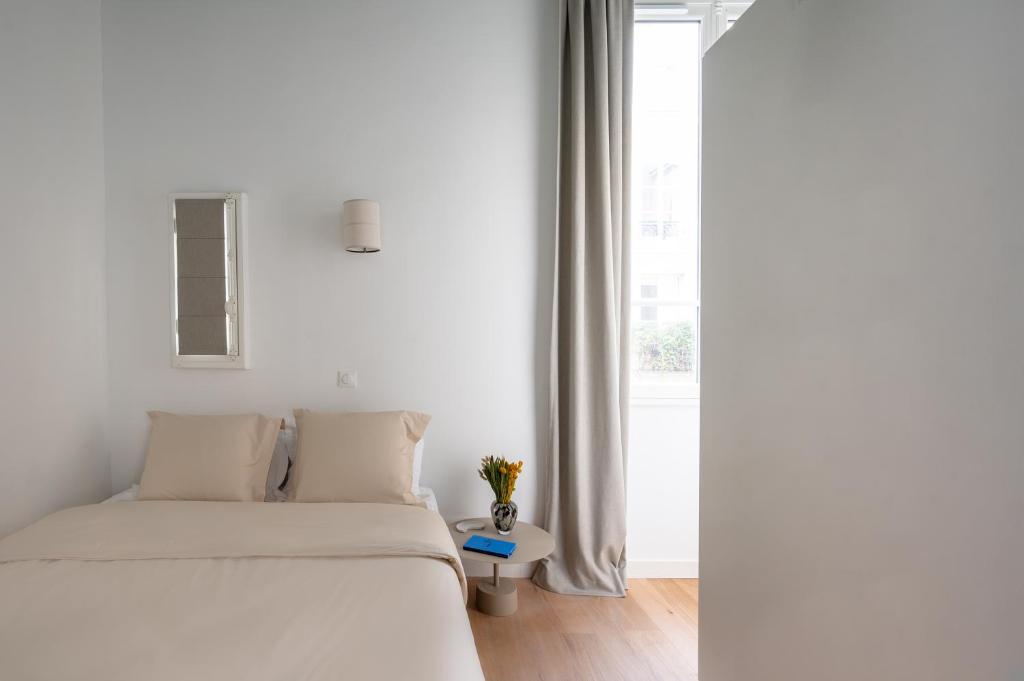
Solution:
<svg viewBox="0 0 1024 681">
<path fill-rule="evenodd" d="M 450 522 L 449 531 L 452 533 L 452 540 L 464 561 L 475 560 L 476 562 L 493 563 L 495 566 L 495 577 L 492 582 L 481 581 L 476 584 L 476 609 L 484 614 L 496 616 L 512 614 L 519 607 L 519 595 L 514 582 L 511 580 L 502 582 L 498 573 L 499 568 L 505 564 L 530 563 L 544 558 L 555 550 L 555 538 L 537 525 L 521 520 L 515 524 L 511 535 L 499 535 L 490 518 L 471 519 L 484 523 L 483 529 L 469 529 L 461 533 L 455 528 L 455 522 Z M 500 558 L 488 556 L 485 553 L 466 551 L 462 547 L 473 535 L 503 542 L 515 542 L 515 552 L 508 558 Z"/>
</svg>

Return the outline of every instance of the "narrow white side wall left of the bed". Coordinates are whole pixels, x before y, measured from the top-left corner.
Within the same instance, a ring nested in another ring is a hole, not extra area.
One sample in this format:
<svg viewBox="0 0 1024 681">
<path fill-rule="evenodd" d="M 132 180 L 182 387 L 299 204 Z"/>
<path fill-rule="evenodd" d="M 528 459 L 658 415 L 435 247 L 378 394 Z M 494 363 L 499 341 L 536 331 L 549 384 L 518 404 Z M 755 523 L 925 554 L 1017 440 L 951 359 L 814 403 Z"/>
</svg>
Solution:
<svg viewBox="0 0 1024 681">
<path fill-rule="evenodd" d="M 99 17 L 0 4 L 0 537 L 111 488 Z"/>
</svg>

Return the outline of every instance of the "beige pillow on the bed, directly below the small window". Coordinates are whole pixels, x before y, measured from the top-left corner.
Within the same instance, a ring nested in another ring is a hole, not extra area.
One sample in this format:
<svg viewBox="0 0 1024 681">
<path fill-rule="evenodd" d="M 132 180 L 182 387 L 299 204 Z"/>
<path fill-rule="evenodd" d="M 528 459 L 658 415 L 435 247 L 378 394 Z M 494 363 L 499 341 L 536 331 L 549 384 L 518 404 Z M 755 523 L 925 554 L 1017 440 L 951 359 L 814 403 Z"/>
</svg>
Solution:
<svg viewBox="0 0 1024 681">
<path fill-rule="evenodd" d="M 263 501 L 281 419 L 150 412 L 139 500 Z"/>
</svg>

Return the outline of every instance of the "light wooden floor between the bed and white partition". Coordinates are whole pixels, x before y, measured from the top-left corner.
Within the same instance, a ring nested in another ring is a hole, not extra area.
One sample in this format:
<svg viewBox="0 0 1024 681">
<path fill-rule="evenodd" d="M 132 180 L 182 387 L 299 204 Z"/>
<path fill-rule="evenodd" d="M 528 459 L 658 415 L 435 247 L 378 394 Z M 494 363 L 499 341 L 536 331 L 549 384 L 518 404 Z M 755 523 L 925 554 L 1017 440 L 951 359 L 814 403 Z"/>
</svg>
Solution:
<svg viewBox="0 0 1024 681">
<path fill-rule="evenodd" d="M 696 681 L 697 581 L 630 580 L 626 598 L 561 596 L 515 580 L 519 611 L 469 621 L 487 681 Z"/>
</svg>

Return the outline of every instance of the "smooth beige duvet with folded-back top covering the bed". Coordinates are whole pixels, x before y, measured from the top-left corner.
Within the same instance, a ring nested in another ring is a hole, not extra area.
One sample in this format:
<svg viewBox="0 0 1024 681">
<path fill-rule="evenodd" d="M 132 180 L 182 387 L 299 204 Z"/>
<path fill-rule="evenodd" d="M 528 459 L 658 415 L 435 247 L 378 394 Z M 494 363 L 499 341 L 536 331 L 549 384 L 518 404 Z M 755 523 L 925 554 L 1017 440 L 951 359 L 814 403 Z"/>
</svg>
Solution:
<svg viewBox="0 0 1024 681">
<path fill-rule="evenodd" d="M 139 502 L 0 540 L 4 679 L 482 681 L 436 513 Z"/>
</svg>

